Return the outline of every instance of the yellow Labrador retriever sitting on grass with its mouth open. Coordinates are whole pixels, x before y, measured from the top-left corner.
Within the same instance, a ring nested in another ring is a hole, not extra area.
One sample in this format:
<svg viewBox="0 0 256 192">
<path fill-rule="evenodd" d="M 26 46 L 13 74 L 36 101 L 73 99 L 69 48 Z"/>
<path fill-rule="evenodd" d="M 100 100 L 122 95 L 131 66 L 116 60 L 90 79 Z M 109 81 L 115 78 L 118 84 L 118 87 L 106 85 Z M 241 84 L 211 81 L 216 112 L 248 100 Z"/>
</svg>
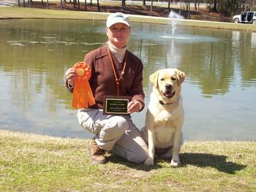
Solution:
<svg viewBox="0 0 256 192">
<path fill-rule="evenodd" d="M 183 144 L 181 127 L 184 122 L 180 93 L 184 79 L 184 72 L 178 69 L 161 69 L 149 77 L 153 91 L 146 112 L 146 126 L 142 130 L 148 142 L 146 165 L 154 164 L 154 155 L 172 157 L 172 166 L 180 164 L 178 153 Z"/>
</svg>

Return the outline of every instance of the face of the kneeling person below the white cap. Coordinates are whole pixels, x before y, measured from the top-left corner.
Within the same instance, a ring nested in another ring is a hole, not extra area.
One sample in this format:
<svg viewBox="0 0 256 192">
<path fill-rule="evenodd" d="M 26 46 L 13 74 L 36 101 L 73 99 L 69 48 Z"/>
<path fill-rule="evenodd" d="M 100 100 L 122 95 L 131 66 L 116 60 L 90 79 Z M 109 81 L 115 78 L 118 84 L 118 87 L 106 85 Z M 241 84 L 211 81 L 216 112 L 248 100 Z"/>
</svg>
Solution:
<svg viewBox="0 0 256 192">
<path fill-rule="evenodd" d="M 106 28 L 109 41 L 118 48 L 127 45 L 130 32 L 131 28 L 124 23 L 116 23 Z"/>
</svg>

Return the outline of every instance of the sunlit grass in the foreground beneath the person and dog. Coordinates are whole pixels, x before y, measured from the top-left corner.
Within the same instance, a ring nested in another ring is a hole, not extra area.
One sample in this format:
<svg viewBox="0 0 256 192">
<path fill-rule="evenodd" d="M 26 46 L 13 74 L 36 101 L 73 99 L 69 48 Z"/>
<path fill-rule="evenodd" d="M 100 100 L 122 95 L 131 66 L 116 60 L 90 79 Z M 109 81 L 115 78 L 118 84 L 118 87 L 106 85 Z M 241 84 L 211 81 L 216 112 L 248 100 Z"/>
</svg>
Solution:
<svg viewBox="0 0 256 192">
<path fill-rule="evenodd" d="M 181 166 L 132 164 L 108 153 L 91 164 L 89 141 L 0 131 L 0 191 L 255 191 L 256 142 L 185 142 Z"/>
</svg>

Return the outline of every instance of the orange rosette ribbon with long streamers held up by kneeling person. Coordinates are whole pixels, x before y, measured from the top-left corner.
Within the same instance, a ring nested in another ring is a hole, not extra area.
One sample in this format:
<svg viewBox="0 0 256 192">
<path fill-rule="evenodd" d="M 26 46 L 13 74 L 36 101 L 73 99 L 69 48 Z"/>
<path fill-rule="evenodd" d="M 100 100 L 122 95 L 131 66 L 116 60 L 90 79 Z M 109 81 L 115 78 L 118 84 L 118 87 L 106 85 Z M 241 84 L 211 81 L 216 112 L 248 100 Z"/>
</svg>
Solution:
<svg viewBox="0 0 256 192">
<path fill-rule="evenodd" d="M 73 66 L 78 74 L 78 79 L 75 80 L 73 90 L 72 107 L 75 109 L 88 108 L 95 104 L 94 95 L 91 92 L 89 79 L 91 77 L 91 69 L 88 64 L 78 62 Z"/>
</svg>

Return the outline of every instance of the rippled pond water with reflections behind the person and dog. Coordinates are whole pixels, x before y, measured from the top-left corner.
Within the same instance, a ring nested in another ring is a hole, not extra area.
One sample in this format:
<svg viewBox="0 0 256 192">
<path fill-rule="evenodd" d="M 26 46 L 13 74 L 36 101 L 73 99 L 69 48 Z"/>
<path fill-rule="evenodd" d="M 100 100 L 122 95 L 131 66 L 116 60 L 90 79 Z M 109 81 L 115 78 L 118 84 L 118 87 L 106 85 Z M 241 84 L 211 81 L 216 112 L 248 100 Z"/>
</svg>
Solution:
<svg viewBox="0 0 256 192">
<path fill-rule="evenodd" d="M 148 77 L 178 68 L 187 140 L 255 140 L 256 33 L 132 23 L 129 50 Z M 88 139 L 78 124 L 64 72 L 107 41 L 96 20 L 0 20 L 0 129 Z M 146 109 L 132 115 L 141 128 Z"/>
</svg>

